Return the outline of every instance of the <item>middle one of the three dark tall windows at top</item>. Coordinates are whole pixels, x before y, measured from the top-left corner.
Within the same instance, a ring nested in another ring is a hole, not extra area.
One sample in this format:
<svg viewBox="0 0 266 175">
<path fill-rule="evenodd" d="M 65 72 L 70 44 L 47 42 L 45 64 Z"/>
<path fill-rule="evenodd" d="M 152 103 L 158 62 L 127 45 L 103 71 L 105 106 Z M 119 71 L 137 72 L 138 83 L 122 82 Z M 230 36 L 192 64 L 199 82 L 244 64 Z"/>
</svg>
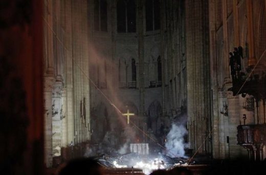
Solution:
<svg viewBox="0 0 266 175">
<path fill-rule="evenodd" d="M 117 3 L 117 32 L 136 32 L 135 0 L 119 0 Z"/>
</svg>

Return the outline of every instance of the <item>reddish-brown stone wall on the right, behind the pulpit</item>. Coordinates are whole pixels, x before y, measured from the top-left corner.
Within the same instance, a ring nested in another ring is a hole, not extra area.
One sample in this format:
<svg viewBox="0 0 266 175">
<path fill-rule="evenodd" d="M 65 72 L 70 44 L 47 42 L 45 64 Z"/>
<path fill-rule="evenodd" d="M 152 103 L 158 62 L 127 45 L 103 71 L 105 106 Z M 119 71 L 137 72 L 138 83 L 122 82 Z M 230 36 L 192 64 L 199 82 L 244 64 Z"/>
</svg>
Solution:
<svg viewBox="0 0 266 175">
<path fill-rule="evenodd" d="M 234 47 L 243 48 L 242 71 L 254 66 L 265 50 L 263 35 L 265 1 L 209 1 L 210 70 L 212 89 L 212 143 L 214 158 L 247 158 L 247 150 L 237 145 L 237 125 L 254 122 L 254 108 L 247 108 L 250 96 L 232 96 L 229 52 Z M 258 63 L 256 71 L 263 64 Z M 250 103 L 250 102 L 249 102 Z M 252 102 L 251 102 L 252 103 Z M 254 102 L 253 102 L 254 103 Z M 262 102 L 261 102 L 262 103 Z M 252 104 L 251 104 L 252 106 Z M 253 105 L 254 106 L 254 105 Z M 260 122 L 262 122 L 260 105 Z M 229 143 L 227 142 L 229 137 Z"/>
</svg>

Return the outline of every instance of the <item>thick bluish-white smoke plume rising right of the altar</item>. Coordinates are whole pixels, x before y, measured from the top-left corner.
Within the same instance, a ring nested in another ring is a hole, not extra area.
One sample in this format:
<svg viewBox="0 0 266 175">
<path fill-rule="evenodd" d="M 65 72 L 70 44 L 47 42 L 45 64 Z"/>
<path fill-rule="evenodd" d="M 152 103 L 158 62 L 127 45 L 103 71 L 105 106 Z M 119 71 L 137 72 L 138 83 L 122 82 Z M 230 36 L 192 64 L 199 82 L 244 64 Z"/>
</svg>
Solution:
<svg viewBox="0 0 266 175">
<path fill-rule="evenodd" d="M 185 148 L 188 146 L 184 143 L 184 136 L 187 134 L 187 129 L 183 124 L 173 123 L 171 130 L 167 135 L 165 147 L 167 148 L 167 156 L 185 157 Z"/>
</svg>

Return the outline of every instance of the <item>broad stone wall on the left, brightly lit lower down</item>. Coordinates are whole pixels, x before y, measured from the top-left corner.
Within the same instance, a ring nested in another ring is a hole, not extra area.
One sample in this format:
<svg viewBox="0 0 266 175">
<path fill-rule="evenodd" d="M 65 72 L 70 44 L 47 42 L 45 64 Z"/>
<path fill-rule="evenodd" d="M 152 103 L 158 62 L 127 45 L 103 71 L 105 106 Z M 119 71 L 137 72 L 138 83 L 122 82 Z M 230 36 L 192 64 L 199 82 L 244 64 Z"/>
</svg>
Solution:
<svg viewBox="0 0 266 175">
<path fill-rule="evenodd" d="M 90 139 L 86 1 L 45 1 L 45 162 Z M 72 155 L 72 157 L 75 155 Z"/>
</svg>

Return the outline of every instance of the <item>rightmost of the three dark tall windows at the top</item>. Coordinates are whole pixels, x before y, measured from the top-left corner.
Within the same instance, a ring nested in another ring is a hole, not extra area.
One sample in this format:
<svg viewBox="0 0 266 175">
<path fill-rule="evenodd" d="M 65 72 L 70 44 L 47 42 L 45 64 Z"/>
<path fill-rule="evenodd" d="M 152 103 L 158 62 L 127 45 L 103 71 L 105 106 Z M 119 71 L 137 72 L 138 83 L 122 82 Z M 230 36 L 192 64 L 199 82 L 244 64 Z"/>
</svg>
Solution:
<svg viewBox="0 0 266 175">
<path fill-rule="evenodd" d="M 146 1 L 146 31 L 160 29 L 160 0 Z"/>
</svg>

